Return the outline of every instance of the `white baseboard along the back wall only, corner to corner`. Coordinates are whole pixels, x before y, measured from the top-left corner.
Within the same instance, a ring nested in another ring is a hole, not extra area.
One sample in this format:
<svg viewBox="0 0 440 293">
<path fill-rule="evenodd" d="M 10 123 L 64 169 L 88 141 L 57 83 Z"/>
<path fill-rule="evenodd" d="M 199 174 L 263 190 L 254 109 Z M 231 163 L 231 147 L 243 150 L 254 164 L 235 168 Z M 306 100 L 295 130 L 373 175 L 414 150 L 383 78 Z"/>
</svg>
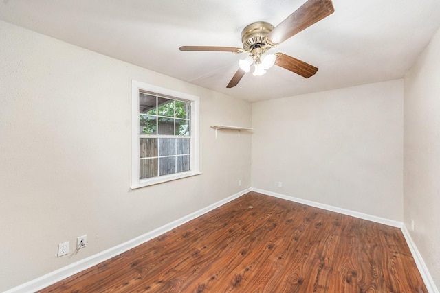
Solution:
<svg viewBox="0 0 440 293">
<path fill-rule="evenodd" d="M 286 196 L 285 194 L 277 194 L 276 192 L 272 192 L 272 191 L 267 191 L 267 190 L 258 189 L 258 188 L 252 188 L 252 191 L 259 192 L 261 194 L 267 194 L 268 196 L 274 196 L 276 198 L 283 198 L 284 200 L 290 200 L 291 202 L 298 202 L 300 204 L 306 204 L 310 207 L 317 207 L 319 209 L 325 209 L 327 211 L 334 211 L 336 213 L 342 213 L 343 215 L 351 215 L 352 217 L 355 217 L 355 218 L 369 220 L 372 222 L 385 224 L 388 226 L 401 228 L 401 226 L 403 225 L 402 222 L 399 222 L 399 221 L 381 218 L 381 217 L 377 217 L 375 215 L 368 215 L 366 213 L 360 213 L 358 211 L 351 211 L 349 209 L 341 209 L 340 207 L 333 207 L 328 204 L 313 202 L 311 200 L 304 200 L 302 198 L 295 198 L 293 196 Z"/>
</svg>

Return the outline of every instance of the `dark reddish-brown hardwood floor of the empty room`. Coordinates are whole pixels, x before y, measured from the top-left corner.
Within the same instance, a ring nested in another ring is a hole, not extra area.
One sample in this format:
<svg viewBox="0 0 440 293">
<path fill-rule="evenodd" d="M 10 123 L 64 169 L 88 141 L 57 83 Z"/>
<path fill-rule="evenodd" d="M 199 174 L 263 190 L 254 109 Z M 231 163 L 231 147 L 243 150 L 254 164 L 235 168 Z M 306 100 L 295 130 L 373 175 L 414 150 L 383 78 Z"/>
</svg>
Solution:
<svg viewBox="0 0 440 293">
<path fill-rule="evenodd" d="M 250 192 L 41 292 L 428 292 L 399 228 Z"/>
</svg>

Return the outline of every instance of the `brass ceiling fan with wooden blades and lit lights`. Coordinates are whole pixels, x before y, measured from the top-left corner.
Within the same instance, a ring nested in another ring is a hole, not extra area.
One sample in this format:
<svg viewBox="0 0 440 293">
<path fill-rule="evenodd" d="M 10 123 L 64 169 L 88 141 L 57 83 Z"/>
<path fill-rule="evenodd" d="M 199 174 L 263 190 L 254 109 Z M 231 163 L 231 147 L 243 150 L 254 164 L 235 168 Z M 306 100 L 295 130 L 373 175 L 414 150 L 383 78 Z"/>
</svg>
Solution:
<svg viewBox="0 0 440 293">
<path fill-rule="evenodd" d="M 310 25 L 334 12 L 331 0 L 308 0 L 287 19 L 274 27 L 265 21 L 251 23 L 241 32 L 243 48 L 213 47 L 213 46 L 182 46 L 180 51 L 223 51 L 232 53 L 247 53 L 247 58 L 239 60 L 239 70 L 226 86 L 236 86 L 243 75 L 254 65 L 254 75 L 263 75 L 273 65 L 278 65 L 305 78 L 313 76 L 318 67 L 288 56 L 283 53 L 269 54 L 269 49 L 278 46 L 288 38 L 305 30 Z"/>
</svg>

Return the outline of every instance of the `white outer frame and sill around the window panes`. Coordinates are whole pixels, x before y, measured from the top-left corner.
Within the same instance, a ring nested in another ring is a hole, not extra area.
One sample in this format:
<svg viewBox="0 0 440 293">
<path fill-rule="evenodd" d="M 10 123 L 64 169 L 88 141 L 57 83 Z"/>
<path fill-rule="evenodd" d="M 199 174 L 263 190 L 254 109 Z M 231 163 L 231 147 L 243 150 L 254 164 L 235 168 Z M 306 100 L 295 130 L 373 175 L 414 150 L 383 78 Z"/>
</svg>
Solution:
<svg viewBox="0 0 440 293">
<path fill-rule="evenodd" d="M 139 93 L 147 91 L 174 97 L 175 99 L 183 99 L 191 103 L 190 107 L 190 170 L 175 174 L 156 176 L 152 178 L 140 179 L 139 161 L 140 161 L 140 134 L 139 134 Z M 199 97 L 188 93 L 181 93 L 165 89 L 153 84 L 146 84 L 136 80 L 131 81 L 131 189 L 165 183 L 171 180 L 177 180 L 190 176 L 201 174 L 199 169 Z"/>
</svg>

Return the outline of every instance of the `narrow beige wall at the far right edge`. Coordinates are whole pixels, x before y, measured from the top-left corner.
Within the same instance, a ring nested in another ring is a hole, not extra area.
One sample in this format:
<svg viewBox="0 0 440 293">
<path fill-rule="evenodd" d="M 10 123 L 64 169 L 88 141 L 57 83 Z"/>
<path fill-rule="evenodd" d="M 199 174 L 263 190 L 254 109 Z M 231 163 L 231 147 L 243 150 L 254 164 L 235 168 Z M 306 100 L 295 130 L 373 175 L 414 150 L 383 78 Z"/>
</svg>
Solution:
<svg viewBox="0 0 440 293">
<path fill-rule="evenodd" d="M 440 288 L 440 30 L 405 76 L 404 221 Z M 411 231 L 411 220 L 415 229 Z"/>
</svg>

